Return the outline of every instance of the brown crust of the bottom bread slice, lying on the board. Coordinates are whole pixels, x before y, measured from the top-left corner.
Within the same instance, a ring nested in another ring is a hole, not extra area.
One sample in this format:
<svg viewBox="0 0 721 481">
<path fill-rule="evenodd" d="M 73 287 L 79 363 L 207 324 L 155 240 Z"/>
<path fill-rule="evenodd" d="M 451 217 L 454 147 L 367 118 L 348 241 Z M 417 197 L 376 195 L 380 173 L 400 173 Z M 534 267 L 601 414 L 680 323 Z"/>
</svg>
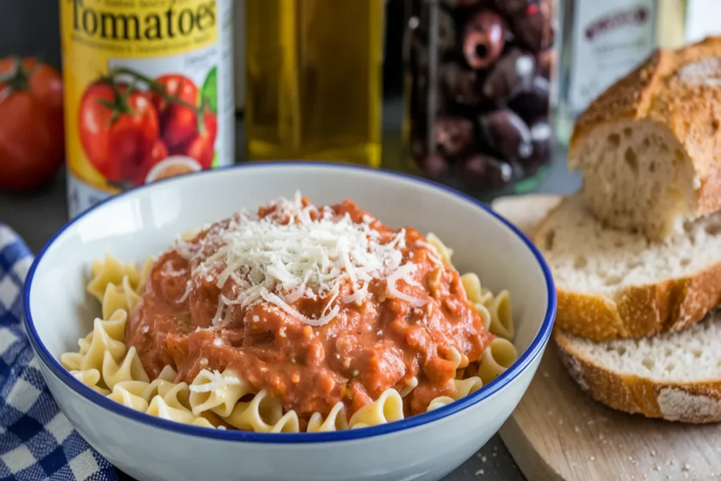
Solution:
<svg viewBox="0 0 721 481">
<path fill-rule="evenodd" d="M 684 423 L 721 422 L 721 379 L 678 383 L 622 374 L 583 356 L 562 330 L 556 328 L 553 337 L 568 374 L 598 402 L 647 418 Z"/>
</svg>

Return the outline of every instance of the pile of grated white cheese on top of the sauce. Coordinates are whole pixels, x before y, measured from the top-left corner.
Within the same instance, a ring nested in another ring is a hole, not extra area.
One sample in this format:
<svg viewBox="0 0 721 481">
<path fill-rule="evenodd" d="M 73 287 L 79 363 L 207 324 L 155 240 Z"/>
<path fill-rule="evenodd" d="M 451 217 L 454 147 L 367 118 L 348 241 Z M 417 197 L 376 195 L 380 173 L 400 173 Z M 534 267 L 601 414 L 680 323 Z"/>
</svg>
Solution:
<svg viewBox="0 0 721 481">
<path fill-rule="evenodd" d="M 262 301 L 278 306 L 295 319 L 311 326 L 322 326 L 340 312 L 337 298 L 341 283 L 350 281 L 352 294 L 340 301 L 360 305 L 368 296 L 373 279 L 386 281 L 386 294 L 408 301 L 412 306 L 425 304 L 399 291 L 401 279 L 412 283 L 410 276 L 417 266 L 403 263 L 402 249 L 406 247 L 405 231 L 401 229 L 389 241 L 382 243 L 381 235 L 370 224 L 369 216 L 355 223 L 348 214 L 337 216 L 328 207 L 303 206 L 300 193 L 293 200 L 281 198 L 270 204 L 275 212 L 270 216 L 242 212 L 231 219 L 226 229 L 192 244 L 176 241 L 176 250 L 188 260 L 200 255 L 208 243 L 217 246 L 193 270 L 185 301 L 196 275 L 221 273 L 218 288 L 224 288 L 229 278 L 238 288 L 229 299 L 221 294 L 213 325 L 224 318 L 227 306 L 252 306 Z M 311 216 L 313 214 L 313 216 Z M 314 219 L 313 217 L 316 217 Z M 280 223 L 279 219 L 287 219 Z M 320 317 L 311 319 L 291 304 L 301 297 L 327 299 Z"/>
</svg>

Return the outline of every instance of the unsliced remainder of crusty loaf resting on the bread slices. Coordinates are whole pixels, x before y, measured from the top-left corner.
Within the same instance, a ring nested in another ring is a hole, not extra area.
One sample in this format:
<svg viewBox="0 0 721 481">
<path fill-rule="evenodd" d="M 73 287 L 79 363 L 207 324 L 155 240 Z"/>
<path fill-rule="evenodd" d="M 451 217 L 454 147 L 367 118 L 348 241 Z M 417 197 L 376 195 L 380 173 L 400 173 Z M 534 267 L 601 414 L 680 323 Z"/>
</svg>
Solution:
<svg viewBox="0 0 721 481">
<path fill-rule="evenodd" d="M 665 239 L 721 209 L 721 37 L 659 50 L 576 121 L 568 165 L 598 219 Z"/>
</svg>

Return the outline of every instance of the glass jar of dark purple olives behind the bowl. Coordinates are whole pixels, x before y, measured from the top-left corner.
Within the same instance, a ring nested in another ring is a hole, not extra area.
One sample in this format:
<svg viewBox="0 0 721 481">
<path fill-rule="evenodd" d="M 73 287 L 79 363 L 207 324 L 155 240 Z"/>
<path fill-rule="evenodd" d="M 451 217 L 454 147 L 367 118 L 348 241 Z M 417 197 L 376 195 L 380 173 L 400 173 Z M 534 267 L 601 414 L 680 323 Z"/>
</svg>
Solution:
<svg viewBox="0 0 721 481">
<path fill-rule="evenodd" d="M 487 199 L 552 162 L 553 0 L 407 0 L 412 172 Z"/>
</svg>

